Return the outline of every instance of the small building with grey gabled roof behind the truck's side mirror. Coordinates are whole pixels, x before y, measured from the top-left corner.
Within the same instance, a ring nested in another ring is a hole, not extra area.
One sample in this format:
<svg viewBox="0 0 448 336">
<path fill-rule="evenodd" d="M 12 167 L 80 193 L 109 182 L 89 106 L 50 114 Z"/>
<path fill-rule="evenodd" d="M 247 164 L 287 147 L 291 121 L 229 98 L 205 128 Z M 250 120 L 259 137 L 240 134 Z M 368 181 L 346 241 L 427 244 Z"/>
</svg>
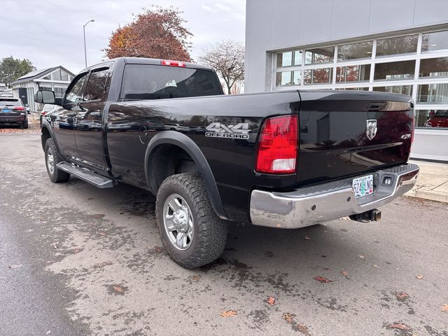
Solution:
<svg viewBox="0 0 448 336">
<path fill-rule="evenodd" d="M 13 96 L 22 99 L 23 104 L 28 104 L 32 111 L 36 111 L 34 93 L 37 90 L 52 90 L 56 97 L 62 97 L 74 76 L 60 65 L 31 71 L 11 83 Z"/>
</svg>

